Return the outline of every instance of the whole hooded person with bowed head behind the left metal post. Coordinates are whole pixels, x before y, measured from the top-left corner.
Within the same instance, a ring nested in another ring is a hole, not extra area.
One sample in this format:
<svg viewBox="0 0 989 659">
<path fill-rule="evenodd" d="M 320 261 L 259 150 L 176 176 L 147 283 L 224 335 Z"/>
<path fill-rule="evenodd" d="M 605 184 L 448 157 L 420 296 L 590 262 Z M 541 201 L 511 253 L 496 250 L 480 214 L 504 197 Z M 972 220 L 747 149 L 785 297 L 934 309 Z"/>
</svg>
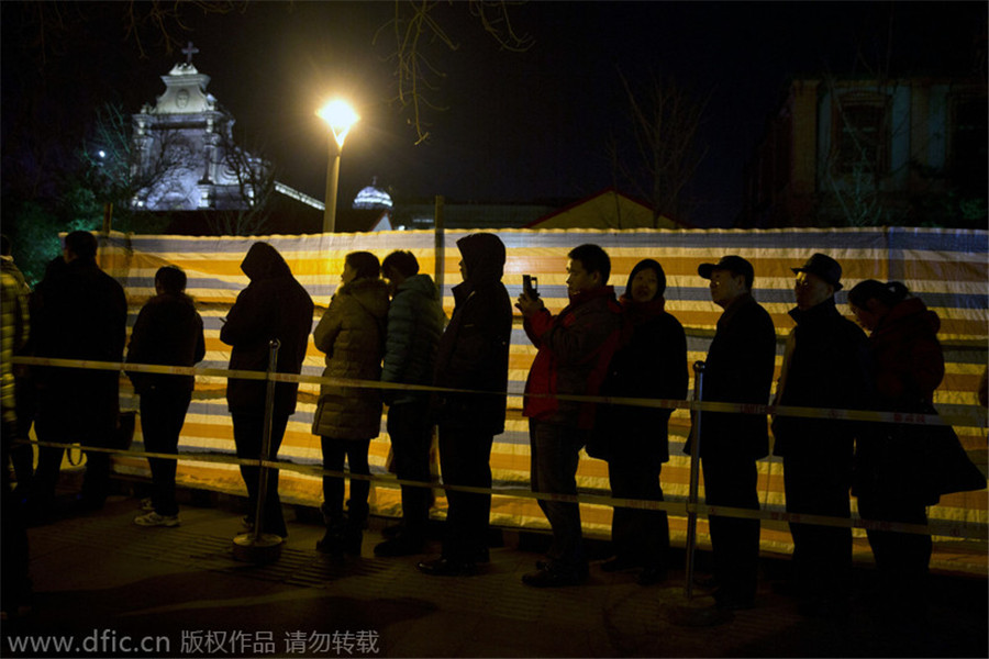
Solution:
<svg viewBox="0 0 989 659">
<path fill-rule="evenodd" d="M 302 371 L 309 333 L 312 331 L 312 299 L 292 277 L 292 271 L 278 250 L 267 243 L 251 246 L 241 264 L 241 270 L 251 283 L 237 295 L 237 301 L 230 309 L 226 323 L 220 331 L 220 340 L 233 346 L 230 369 L 266 371 L 269 344 L 277 339 L 280 344 L 277 371 L 298 375 Z M 260 455 L 266 390 L 265 380 L 227 380 L 226 402 L 233 417 L 238 458 L 257 459 Z M 288 417 L 296 411 L 298 390 L 298 382 L 275 384 L 271 446 L 266 459 L 274 459 L 278 455 Z M 248 524 L 253 524 L 254 511 L 257 509 L 258 468 L 242 466 L 241 474 L 249 495 Z M 288 530 L 278 498 L 277 469 L 268 471 L 267 482 L 262 529 L 285 537 Z"/>
</svg>

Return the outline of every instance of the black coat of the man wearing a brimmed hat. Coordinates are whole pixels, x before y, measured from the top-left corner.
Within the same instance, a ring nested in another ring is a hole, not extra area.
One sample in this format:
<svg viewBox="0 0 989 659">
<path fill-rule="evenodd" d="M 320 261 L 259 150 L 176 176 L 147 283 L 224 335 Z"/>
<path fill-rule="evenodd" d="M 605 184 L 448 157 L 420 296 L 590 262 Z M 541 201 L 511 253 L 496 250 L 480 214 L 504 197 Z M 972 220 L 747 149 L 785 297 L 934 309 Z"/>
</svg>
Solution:
<svg viewBox="0 0 989 659">
<path fill-rule="evenodd" d="M 842 316 L 831 298 L 790 316 L 797 326 L 776 392 L 776 404 L 797 407 L 868 410 L 873 404 L 871 360 L 865 332 Z M 777 456 L 848 455 L 863 432 L 857 422 L 776 416 L 773 420 Z"/>
</svg>

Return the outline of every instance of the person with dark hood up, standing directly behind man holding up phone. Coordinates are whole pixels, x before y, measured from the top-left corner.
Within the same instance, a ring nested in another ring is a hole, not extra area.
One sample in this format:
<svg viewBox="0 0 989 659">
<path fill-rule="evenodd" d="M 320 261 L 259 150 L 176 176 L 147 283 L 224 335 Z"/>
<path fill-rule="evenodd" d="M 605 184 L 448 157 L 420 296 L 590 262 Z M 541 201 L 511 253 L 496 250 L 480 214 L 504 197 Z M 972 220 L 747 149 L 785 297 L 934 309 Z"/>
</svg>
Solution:
<svg viewBox="0 0 989 659">
<path fill-rule="evenodd" d="M 440 466 L 447 485 L 491 488 L 491 445 L 504 432 L 512 303 L 501 276 L 504 244 L 494 234 L 457 241 L 464 282 L 453 288 L 454 313 L 440 339 L 435 384 L 491 394 L 442 393 Z M 491 495 L 447 490 L 446 537 L 438 559 L 419 563 L 426 574 L 460 574 L 486 561 Z"/>
</svg>

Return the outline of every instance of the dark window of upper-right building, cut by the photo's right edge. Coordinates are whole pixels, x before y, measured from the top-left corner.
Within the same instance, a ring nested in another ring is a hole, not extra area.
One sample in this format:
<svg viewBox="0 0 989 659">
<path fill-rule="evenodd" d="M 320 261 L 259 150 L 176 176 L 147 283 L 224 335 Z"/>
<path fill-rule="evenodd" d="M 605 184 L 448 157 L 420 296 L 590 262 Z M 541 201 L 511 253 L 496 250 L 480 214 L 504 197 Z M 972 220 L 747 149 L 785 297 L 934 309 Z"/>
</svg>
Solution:
<svg viewBox="0 0 989 659">
<path fill-rule="evenodd" d="M 956 96 L 951 100 L 948 170 L 952 181 L 967 192 L 986 192 L 989 130 L 986 97 Z"/>
</svg>

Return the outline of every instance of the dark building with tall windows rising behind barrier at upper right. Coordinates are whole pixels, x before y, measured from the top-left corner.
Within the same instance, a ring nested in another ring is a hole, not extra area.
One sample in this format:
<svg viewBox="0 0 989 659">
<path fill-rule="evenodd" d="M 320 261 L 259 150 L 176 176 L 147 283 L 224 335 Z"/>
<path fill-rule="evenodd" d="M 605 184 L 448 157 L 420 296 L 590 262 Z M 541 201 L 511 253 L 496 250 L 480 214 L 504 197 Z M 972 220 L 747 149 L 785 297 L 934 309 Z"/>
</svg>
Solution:
<svg viewBox="0 0 989 659">
<path fill-rule="evenodd" d="M 985 80 L 801 78 L 745 171 L 745 227 L 985 227 Z"/>
</svg>

